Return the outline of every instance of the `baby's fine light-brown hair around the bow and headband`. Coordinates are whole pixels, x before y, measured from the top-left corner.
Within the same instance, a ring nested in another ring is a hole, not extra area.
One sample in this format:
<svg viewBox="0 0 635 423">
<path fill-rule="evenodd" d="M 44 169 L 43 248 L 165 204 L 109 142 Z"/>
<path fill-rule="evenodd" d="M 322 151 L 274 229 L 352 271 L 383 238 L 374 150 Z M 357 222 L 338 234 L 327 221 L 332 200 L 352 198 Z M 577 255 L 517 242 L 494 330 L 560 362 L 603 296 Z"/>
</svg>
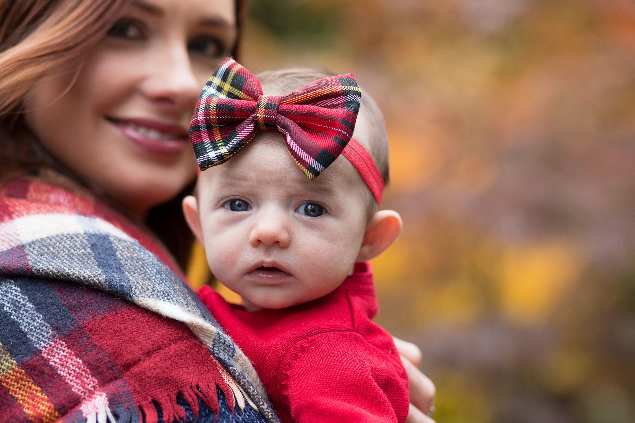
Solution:
<svg viewBox="0 0 635 423">
<path fill-rule="evenodd" d="M 261 72 L 257 77 L 265 94 L 279 96 L 297 91 L 313 81 L 332 75 L 335 74 L 316 68 L 295 68 Z M 364 89 L 361 91 L 361 106 L 352 138 L 366 148 L 384 178 L 384 185 L 387 185 L 390 179 L 390 167 L 388 134 L 384 116 L 375 100 Z M 370 194 L 370 190 L 367 191 Z M 370 197 L 371 202 L 375 204 L 374 211 L 377 209 L 377 201 L 371 194 Z"/>
</svg>

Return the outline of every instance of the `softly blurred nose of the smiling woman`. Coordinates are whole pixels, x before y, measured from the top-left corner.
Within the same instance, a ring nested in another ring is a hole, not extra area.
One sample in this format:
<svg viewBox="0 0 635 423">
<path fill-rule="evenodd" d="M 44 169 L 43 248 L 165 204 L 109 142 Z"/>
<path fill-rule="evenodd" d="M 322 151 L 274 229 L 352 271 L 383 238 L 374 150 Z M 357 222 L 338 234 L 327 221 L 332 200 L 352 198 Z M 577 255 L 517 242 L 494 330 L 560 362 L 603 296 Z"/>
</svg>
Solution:
<svg viewBox="0 0 635 423">
<path fill-rule="evenodd" d="M 202 85 L 192 71 L 185 42 L 163 42 L 153 53 L 154 60 L 140 86 L 144 96 L 169 110 L 194 110 Z"/>
</svg>

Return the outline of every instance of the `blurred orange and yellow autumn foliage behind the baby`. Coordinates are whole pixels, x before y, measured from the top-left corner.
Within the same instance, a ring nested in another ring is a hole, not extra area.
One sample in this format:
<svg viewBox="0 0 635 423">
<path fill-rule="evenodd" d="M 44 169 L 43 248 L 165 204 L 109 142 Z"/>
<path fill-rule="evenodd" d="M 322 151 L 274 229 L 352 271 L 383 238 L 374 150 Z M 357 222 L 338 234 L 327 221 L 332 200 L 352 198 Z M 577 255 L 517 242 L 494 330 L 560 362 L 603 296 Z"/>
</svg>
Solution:
<svg viewBox="0 0 635 423">
<path fill-rule="evenodd" d="M 401 238 L 377 322 L 439 423 L 635 422 L 635 3 L 253 0 L 256 72 L 354 72 Z"/>
</svg>

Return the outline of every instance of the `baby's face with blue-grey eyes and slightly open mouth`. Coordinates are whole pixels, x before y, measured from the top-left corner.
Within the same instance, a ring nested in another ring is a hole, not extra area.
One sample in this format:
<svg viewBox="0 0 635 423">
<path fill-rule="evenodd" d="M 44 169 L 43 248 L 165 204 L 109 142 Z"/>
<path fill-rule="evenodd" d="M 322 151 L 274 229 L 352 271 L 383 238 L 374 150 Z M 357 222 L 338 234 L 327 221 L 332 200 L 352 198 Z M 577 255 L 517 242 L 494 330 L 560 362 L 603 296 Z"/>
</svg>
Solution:
<svg viewBox="0 0 635 423">
<path fill-rule="evenodd" d="M 198 211 L 211 271 L 248 309 L 324 296 L 349 274 L 366 228 L 363 181 L 338 157 L 310 181 L 277 132 L 201 172 Z"/>
</svg>

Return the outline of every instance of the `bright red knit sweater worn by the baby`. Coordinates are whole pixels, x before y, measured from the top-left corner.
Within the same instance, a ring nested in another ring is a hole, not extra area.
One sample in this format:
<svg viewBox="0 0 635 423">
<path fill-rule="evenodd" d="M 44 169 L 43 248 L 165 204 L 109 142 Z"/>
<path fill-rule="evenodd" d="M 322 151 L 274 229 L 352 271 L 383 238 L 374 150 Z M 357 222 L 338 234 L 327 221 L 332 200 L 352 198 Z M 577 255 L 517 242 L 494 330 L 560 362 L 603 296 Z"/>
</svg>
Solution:
<svg viewBox="0 0 635 423">
<path fill-rule="evenodd" d="M 199 296 L 253 363 L 285 423 L 404 422 L 408 377 L 392 337 L 371 322 L 368 263 L 336 290 L 284 309 L 246 311 L 210 287 Z"/>
</svg>

